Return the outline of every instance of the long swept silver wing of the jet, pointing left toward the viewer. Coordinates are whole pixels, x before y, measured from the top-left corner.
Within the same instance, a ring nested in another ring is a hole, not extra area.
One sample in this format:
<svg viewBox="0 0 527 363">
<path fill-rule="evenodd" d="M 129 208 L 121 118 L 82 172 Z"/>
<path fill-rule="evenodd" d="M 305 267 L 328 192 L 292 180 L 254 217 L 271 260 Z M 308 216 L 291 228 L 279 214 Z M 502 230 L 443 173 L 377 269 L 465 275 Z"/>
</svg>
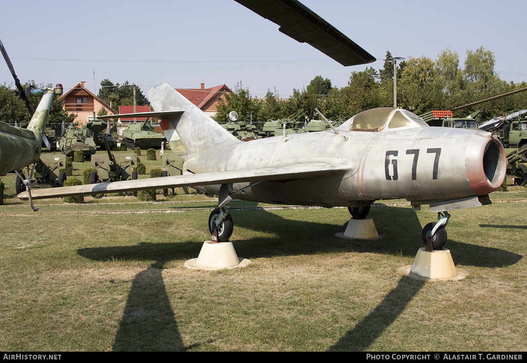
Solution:
<svg viewBox="0 0 527 363">
<path fill-rule="evenodd" d="M 73 195 L 90 195 L 101 193 L 119 193 L 147 189 L 166 189 L 192 187 L 196 185 L 230 184 L 256 181 L 277 181 L 289 179 L 317 178 L 332 174 L 355 173 L 357 164 L 353 161 L 331 163 L 299 163 L 252 170 L 218 171 L 212 173 L 186 174 L 125 180 L 101 184 L 75 185 L 73 187 L 47 188 L 31 190 L 33 199 L 71 197 Z M 18 194 L 18 198 L 27 200 L 27 192 Z"/>
</svg>

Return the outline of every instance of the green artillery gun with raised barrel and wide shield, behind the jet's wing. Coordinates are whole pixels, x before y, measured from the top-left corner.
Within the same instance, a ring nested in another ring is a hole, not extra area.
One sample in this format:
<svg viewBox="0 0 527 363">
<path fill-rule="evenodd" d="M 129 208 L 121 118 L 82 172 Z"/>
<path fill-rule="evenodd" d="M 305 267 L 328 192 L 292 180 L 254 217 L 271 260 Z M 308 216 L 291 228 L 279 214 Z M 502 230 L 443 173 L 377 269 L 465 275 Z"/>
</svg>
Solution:
<svg viewBox="0 0 527 363">
<path fill-rule="evenodd" d="M 90 184 L 99 182 L 112 182 L 128 180 L 129 178 L 137 179 L 137 171 L 133 169 L 137 165 L 137 155 L 131 154 L 112 154 L 106 136 L 102 137 L 106 155 L 92 155 L 92 171 L 90 174 Z"/>
</svg>

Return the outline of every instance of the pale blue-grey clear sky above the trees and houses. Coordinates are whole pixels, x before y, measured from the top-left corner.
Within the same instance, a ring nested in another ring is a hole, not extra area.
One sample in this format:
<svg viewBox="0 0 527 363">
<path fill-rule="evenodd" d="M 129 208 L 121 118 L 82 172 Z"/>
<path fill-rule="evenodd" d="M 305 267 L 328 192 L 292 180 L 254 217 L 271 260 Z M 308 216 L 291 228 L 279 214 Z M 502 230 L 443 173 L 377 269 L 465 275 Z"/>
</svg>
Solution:
<svg viewBox="0 0 527 363">
<path fill-rule="evenodd" d="M 450 48 L 463 67 L 467 50 L 480 47 L 494 53 L 502 80 L 527 81 L 525 0 L 302 3 L 377 61 L 340 65 L 233 0 L 3 1 L 0 40 L 21 82 L 61 83 L 67 91 L 85 81 L 95 94 L 109 79 L 135 83 L 145 95 L 162 82 L 174 88 L 226 84 L 232 90 L 241 82 L 252 97 L 275 89 L 288 97 L 317 75 L 344 87 L 352 72 L 382 68 L 388 50 L 436 60 Z M 5 64 L 4 82 L 13 82 Z"/>
</svg>

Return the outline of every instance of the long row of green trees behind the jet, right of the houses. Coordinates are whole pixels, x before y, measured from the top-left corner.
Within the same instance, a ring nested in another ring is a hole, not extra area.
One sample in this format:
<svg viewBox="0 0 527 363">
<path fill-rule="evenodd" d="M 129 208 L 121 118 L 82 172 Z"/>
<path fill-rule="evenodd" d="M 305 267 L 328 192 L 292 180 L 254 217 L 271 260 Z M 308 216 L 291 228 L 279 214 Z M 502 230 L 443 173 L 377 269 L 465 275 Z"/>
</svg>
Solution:
<svg viewBox="0 0 527 363">
<path fill-rule="evenodd" d="M 397 63 L 397 106 L 415 114 L 433 110 L 452 110 L 455 107 L 487 99 L 492 96 L 527 87 L 526 82 L 514 83 L 500 79 L 494 70 L 495 58 L 491 51 L 480 47 L 467 51 L 463 67 L 459 55 L 446 49 L 436 60 L 428 57 L 409 57 Z M 237 111 L 241 121 L 265 122 L 297 115 L 301 121 L 318 119 L 315 108 L 329 119 L 348 119 L 359 112 L 376 107 L 393 107 L 394 58 L 387 51 L 384 67 L 352 72 L 348 85 L 332 87 L 331 81 L 316 76 L 302 90 L 282 99 L 268 90 L 264 99 L 253 98 L 241 81 L 231 94 L 225 94 L 217 106 L 216 121 L 227 121 L 230 111 Z M 476 108 L 454 113 L 465 117 L 481 110 L 483 120 L 527 108 L 527 92 L 487 102 Z M 305 118 L 304 118 L 305 117 Z"/>
</svg>

